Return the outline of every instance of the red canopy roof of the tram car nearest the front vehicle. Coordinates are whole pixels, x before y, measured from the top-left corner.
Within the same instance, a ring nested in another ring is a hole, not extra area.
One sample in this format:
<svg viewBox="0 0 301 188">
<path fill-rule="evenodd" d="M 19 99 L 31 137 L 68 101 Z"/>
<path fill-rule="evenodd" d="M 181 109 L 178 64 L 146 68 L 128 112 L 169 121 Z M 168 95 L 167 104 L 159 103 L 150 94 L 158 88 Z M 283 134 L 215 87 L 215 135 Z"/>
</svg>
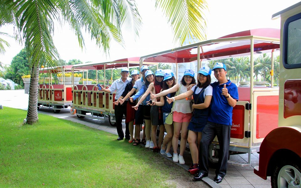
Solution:
<svg viewBox="0 0 301 188">
<path fill-rule="evenodd" d="M 251 39 L 254 53 L 268 53 L 280 48 L 280 30 L 260 28 L 225 35 L 175 49 L 142 56 L 143 62 L 186 63 L 197 61 L 198 46 L 203 61 L 250 55 Z"/>
</svg>

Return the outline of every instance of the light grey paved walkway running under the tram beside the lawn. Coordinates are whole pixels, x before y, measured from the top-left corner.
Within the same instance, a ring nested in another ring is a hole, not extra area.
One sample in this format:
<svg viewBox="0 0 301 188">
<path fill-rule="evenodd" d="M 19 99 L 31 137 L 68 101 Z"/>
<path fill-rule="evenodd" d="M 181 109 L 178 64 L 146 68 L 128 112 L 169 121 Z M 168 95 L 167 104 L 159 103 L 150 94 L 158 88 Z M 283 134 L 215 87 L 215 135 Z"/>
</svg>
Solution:
<svg viewBox="0 0 301 188">
<path fill-rule="evenodd" d="M 28 94 L 24 94 L 24 90 L 0 90 L 0 104 L 3 106 L 8 106 L 12 108 L 18 108 L 27 110 L 28 107 Z M 92 118 L 85 117 L 84 119 L 77 118 L 76 115 L 70 114 L 70 108 L 61 110 L 60 113 L 54 114 L 52 109 L 40 109 L 38 111 L 42 114 L 52 115 L 54 117 L 70 120 L 73 122 L 78 122 L 84 124 L 86 126 L 110 132 L 117 135 L 117 131 L 115 127 L 110 126 L 108 122 L 108 118 L 106 120 L 96 120 Z M 125 125 L 123 126 L 125 131 Z M 142 132 L 141 132 L 142 134 Z M 117 138 L 117 136 L 116 136 Z M 171 151 L 172 153 L 172 151 Z M 167 158 L 166 156 L 162 155 L 168 160 L 172 161 L 172 158 Z M 240 154 L 240 155 L 231 155 L 230 160 L 236 160 L 240 162 L 247 162 L 248 155 L 247 154 Z M 185 152 L 184 159 L 186 164 L 180 165 L 182 168 L 187 169 L 192 163 L 190 153 Z M 268 177 L 267 180 L 263 180 L 257 175 L 253 173 L 253 167 L 258 165 L 259 154 L 253 153 L 251 155 L 251 166 L 249 167 L 240 167 L 234 165 L 228 165 L 227 175 L 224 177 L 224 180 L 220 184 L 216 184 L 213 179 L 215 176 L 215 169 L 209 169 L 209 176 L 203 178 L 203 180 L 210 186 L 214 188 L 224 187 L 224 188 L 267 188 L 271 187 L 271 180 Z M 188 173 L 188 172 L 187 172 Z M 192 176 L 193 178 L 193 176 Z M 193 181 L 193 180 L 192 180 Z"/>
</svg>

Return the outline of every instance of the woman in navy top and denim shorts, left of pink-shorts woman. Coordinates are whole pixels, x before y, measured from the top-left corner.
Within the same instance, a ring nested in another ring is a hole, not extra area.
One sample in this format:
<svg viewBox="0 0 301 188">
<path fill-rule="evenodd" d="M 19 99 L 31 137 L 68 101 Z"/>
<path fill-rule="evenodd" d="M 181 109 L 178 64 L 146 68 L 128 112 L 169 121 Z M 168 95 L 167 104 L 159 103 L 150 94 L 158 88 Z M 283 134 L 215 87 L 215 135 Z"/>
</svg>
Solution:
<svg viewBox="0 0 301 188">
<path fill-rule="evenodd" d="M 163 87 L 160 92 L 172 88 L 176 84 L 176 80 L 174 77 L 174 74 L 171 70 L 164 70 L 164 80 L 163 80 Z M 152 101 L 152 104 L 150 105 L 156 105 L 156 106 L 162 106 L 162 112 L 163 112 L 163 122 L 166 129 L 166 136 L 164 137 L 163 144 L 161 145 L 160 153 L 162 155 L 166 155 L 169 158 L 172 158 L 172 154 L 169 153 L 170 148 L 172 147 L 172 137 L 173 137 L 173 125 L 167 124 L 165 122 L 166 117 L 168 114 L 172 111 L 172 105 L 168 104 L 166 102 L 166 97 L 173 97 L 175 96 L 176 92 L 169 93 L 166 96 L 161 96 L 160 101 L 157 101 L 157 98 L 154 98 Z M 160 131 L 161 132 L 161 131 Z M 167 145 L 167 146 L 166 146 Z"/>
</svg>

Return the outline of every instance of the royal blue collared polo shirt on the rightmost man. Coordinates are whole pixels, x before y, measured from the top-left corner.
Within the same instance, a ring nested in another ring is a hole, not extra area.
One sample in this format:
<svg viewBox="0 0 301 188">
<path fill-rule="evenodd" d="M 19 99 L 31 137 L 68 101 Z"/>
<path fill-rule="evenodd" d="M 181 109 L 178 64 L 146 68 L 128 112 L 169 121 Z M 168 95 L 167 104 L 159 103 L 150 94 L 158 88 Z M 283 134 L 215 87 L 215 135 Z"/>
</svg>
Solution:
<svg viewBox="0 0 301 188">
<path fill-rule="evenodd" d="M 238 100 L 237 86 L 230 80 L 225 83 L 228 93 L 235 100 Z M 210 84 L 212 86 L 211 110 L 208 121 L 223 125 L 232 125 L 232 110 L 233 107 L 228 104 L 228 100 L 222 95 L 224 84 L 219 85 L 219 82 Z"/>
</svg>

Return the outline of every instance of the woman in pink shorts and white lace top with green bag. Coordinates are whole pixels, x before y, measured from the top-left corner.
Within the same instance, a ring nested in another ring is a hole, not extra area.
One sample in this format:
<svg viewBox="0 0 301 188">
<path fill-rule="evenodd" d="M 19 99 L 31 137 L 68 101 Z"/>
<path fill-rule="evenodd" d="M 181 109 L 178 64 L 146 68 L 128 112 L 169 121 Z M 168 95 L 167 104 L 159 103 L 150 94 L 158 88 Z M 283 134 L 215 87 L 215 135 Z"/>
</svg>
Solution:
<svg viewBox="0 0 301 188">
<path fill-rule="evenodd" d="M 165 96 L 168 93 L 178 92 L 178 94 L 185 93 L 187 87 L 190 84 L 195 84 L 194 72 L 193 70 L 186 70 L 181 82 L 174 85 L 172 88 L 162 91 L 159 94 L 151 95 L 151 98 Z M 173 127 L 174 134 L 172 138 L 172 148 L 173 148 L 173 157 L 172 161 L 174 163 L 179 162 L 179 164 L 185 164 L 183 153 L 186 148 L 187 143 L 187 127 L 191 119 L 192 112 L 192 103 L 190 99 L 181 99 L 178 100 L 173 107 Z M 180 153 L 178 156 L 177 148 L 179 142 L 179 136 L 181 134 L 180 142 Z"/>
</svg>

